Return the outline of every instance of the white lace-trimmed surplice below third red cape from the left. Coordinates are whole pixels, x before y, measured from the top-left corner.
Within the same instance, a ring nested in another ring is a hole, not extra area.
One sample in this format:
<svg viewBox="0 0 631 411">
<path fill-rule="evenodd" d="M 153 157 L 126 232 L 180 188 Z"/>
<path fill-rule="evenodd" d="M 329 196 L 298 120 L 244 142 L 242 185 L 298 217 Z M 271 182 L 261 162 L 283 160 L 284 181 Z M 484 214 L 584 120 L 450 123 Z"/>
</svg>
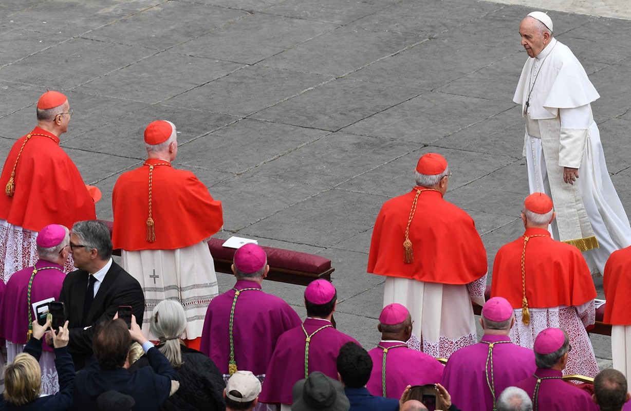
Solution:
<svg viewBox="0 0 631 411">
<path fill-rule="evenodd" d="M 449 358 L 459 348 L 478 342 L 471 301 L 484 304 L 487 276 L 467 285 L 429 283 L 387 277 L 384 306 L 403 304 L 415 321 L 410 348 L 416 337 L 425 354 Z"/>
</svg>

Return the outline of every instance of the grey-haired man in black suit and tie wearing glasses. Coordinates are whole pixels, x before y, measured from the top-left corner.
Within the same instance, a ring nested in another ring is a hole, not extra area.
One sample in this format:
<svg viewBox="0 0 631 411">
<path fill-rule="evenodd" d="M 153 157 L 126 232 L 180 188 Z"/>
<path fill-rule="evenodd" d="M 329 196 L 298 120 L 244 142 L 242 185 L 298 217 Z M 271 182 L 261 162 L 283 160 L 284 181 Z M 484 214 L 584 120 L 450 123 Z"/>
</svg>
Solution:
<svg viewBox="0 0 631 411">
<path fill-rule="evenodd" d="M 95 326 L 114 318 L 119 306 L 131 306 L 138 325 L 142 325 L 144 295 L 138 281 L 112 260 L 112 239 L 104 223 L 74 223 L 70 249 L 78 270 L 66 276 L 59 301 L 66 304 L 68 352 L 78 371 L 92 355 Z"/>
</svg>

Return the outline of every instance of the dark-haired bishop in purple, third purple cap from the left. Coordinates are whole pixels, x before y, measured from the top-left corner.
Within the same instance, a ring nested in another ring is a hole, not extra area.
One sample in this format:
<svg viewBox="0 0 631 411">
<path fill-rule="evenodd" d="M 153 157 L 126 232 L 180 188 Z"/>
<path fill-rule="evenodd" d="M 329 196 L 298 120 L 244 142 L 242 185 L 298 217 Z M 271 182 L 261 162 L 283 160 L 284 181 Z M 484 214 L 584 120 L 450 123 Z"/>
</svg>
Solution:
<svg viewBox="0 0 631 411">
<path fill-rule="evenodd" d="M 259 401 L 291 404 L 293 385 L 314 371 L 338 378 L 339 348 L 357 341 L 331 324 L 337 302 L 338 293 L 331 283 L 315 280 L 309 284 L 305 290 L 307 319 L 278 338 Z"/>
</svg>

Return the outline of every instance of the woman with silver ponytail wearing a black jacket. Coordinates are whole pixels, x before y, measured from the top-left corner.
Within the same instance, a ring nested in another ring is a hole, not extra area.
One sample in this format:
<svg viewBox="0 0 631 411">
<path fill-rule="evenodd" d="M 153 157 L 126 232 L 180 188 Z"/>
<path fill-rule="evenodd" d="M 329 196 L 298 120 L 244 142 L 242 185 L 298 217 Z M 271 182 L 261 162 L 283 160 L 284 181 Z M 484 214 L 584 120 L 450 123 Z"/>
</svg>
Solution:
<svg viewBox="0 0 631 411">
<path fill-rule="evenodd" d="M 225 410 L 225 383 L 219 369 L 206 355 L 186 347 L 180 336 L 186 328 L 184 307 L 175 300 L 163 300 L 153 309 L 149 332 L 160 340 L 156 346 L 167 357 L 180 381 L 180 389 L 165 402 L 160 410 Z M 135 372 L 148 366 L 146 356 L 130 367 Z"/>
</svg>

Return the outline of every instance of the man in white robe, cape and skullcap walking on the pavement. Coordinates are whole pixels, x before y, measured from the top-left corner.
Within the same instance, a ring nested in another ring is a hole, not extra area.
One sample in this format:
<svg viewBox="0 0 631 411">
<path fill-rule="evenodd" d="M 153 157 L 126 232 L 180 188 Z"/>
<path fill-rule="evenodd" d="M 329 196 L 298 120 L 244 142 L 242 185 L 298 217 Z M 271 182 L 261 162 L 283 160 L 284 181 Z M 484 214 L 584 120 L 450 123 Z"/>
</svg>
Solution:
<svg viewBox="0 0 631 411">
<path fill-rule="evenodd" d="M 631 244 L 631 228 L 591 110 L 600 96 L 569 47 L 553 37 L 550 16 L 533 11 L 519 34 L 528 60 L 513 101 L 526 119 L 530 192 L 554 201 L 554 238 L 578 247 L 592 273 L 603 273 L 609 255 Z"/>
</svg>

